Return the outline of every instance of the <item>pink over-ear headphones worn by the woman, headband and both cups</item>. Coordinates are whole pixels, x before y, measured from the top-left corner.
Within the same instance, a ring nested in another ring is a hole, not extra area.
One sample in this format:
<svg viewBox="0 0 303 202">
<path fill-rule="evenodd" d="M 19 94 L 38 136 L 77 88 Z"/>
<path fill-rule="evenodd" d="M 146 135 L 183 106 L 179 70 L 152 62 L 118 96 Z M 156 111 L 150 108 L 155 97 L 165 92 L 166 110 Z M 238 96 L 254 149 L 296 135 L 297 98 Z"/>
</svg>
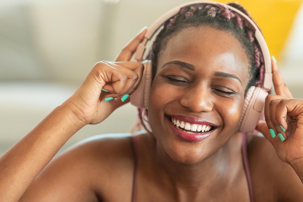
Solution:
<svg viewBox="0 0 303 202">
<path fill-rule="evenodd" d="M 213 1 L 192 1 L 188 3 L 184 3 L 180 6 L 177 6 L 167 13 L 159 17 L 149 28 L 144 36 L 144 40 L 136 49 L 135 59 L 138 62 L 143 61 L 143 55 L 146 50 L 146 44 L 149 40 L 151 40 L 152 36 L 159 30 L 159 28 L 163 25 L 163 23 L 175 16 L 179 13 L 180 8 L 185 6 L 190 6 L 193 4 L 213 4 L 216 5 L 218 2 Z M 244 13 L 239 11 L 238 9 L 224 4 L 228 9 L 234 11 L 235 13 L 242 16 L 243 19 L 246 20 L 248 25 L 251 26 L 251 29 L 255 31 L 255 38 L 258 41 L 260 49 L 263 54 L 265 73 L 264 73 L 264 82 L 261 87 L 252 86 L 248 90 L 245 96 L 244 107 L 242 110 L 242 115 L 239 123 L 239 131 L 241 132 L 252 132 L 256 125 L 258 124 L 258 120 L 260 119 L 261 113 L 263 112 L 265 97 L 268 95 L 268 92 L 272 87 L 272 65 L 271 58 L 268 47 L 264 40 L 264 37 L 261 31 L 258 29 L 258 26 Z M 130 101 L 131 104 L 139 107 L 146 108 L 148 107 L 150 89 L 152 85 L 152 63 L 149 60 L 145 60 L 144 64 L 144 72 L 141 79 L 141 82 L 136 89 L 136 91 L 131 94 Z"/>
</svg>

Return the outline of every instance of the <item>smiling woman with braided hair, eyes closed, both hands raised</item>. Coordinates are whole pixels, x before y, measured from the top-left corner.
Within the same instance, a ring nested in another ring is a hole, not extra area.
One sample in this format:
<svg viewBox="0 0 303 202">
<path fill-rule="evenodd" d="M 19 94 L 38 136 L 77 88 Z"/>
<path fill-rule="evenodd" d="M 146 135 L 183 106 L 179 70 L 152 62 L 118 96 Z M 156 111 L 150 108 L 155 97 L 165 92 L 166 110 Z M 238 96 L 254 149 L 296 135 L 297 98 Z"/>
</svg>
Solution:
<svg viewBox="0 0 303 202">
<path fill-rule="evenodd" d="M 244 98 L 263 82 L 262 54 L 243 22 L 221 4 L 182 8 L 153 43 L 142 117 L 151 130 L 91 138 L 50 162 L 77 130 L 128 102 L 143 72 L 129 61 L 146 29 L 116 62 L 95 64 L 1 156 L 0 201 L 302 201 L 303 101 L 291 98 L 274 61 L 277 95 L 266 97 L 266 123 L 256 126 L 269 141 L 239 132 Z"/>
</svg>

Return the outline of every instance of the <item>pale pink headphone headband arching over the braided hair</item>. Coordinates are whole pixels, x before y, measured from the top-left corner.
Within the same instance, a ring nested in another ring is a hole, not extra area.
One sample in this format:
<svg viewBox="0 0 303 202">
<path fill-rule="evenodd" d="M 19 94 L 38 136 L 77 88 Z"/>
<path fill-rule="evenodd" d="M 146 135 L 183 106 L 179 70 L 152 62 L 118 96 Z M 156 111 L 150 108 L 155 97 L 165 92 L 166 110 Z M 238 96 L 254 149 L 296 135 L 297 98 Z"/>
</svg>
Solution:
<svg viewBox="0 0 303 202">
<path fill-rule="evenodd" d="M 264 82 L 262 84 L 262 88 L 266 89 L 267 91 L 270 91 L 270 89 L 272 87 L 272 78 L 273 78 L 272 65 L 271 65 L 271 59 L 270 59 L 271 57 L 270 57 L 268 47 L 266 45 L 265 39 L 264 39 L 261 31 L 258 29 L 258 26 L 254 23 L 254 21 L 252 19 L 250 19 L 247 15 L 242 13 L 240 10 L 238 10 L 232 6 L 229 6 L 227 4 L 223 4 L 223 3 L 218 3 L 218 2 L 214 2 L 214 1 L 191 1 L 191 2 L 184 3 L 182 5 L 179 5 L 175 8 L 172 8 L 171 10 L 169 10 L 168 12 L 166 12 L 165 14 L 160 16 L 148 29 L 148 31 L 146 32 L 146 34 L 144 36 L 143 41 L 139 44 L 139 46 L 136 49 L 135 59 L 137 61 L 143 60 L 143 55 L 146 50 L 145 46 L 146 46 L 147 42 L 152 38 L 154 33 L 168 19 L 170 19 L 171 17 L 178 14 L 182 7 L 196 5 L 196 4 L 212 4 L 212 5 L 222 4 L 222 5 L 226 6 L 228 9 L 232 10 L 233 12 L 239 14 L 248 23 L 250 28 L 255 32 L 255 38 L 257 39 L 258 45 L 259 45 L 262 55 L 263 55 L 265 71 L 264 71 Z"/>
</svg>

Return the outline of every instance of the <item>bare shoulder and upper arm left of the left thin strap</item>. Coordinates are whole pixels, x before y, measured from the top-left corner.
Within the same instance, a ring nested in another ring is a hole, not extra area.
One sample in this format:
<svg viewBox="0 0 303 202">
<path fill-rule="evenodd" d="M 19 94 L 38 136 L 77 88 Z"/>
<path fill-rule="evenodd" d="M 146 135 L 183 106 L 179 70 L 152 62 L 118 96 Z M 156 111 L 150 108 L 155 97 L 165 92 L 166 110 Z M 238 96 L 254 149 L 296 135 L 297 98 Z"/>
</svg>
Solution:
<svg viewBox="0 0 303 202">
<path fill-rule="evenodd" d="M 134 170 L 131 136 L 129 133 L 105 134 L 77 143 L 49 163 L 24 198 L 129 201 Z"/>
</svg>

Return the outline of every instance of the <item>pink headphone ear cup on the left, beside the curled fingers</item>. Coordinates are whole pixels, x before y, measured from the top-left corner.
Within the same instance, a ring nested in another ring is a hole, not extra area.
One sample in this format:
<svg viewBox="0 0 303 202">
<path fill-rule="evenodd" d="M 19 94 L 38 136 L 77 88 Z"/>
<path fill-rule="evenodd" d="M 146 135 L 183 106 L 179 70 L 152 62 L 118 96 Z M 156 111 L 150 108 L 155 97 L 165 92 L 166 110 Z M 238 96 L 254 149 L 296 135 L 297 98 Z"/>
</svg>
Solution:
<svg viewBox="0 0 303 202">
<path fill-rule="evenodd" d="M 131 104 L 138 108 L 148 107 L 152 86 L 152 62 L 150 60 L 145 60 L 142 63 L 144 65 L 144 70 L 141 81 L 136 91 L 130 96 Z"/>
</svg>

